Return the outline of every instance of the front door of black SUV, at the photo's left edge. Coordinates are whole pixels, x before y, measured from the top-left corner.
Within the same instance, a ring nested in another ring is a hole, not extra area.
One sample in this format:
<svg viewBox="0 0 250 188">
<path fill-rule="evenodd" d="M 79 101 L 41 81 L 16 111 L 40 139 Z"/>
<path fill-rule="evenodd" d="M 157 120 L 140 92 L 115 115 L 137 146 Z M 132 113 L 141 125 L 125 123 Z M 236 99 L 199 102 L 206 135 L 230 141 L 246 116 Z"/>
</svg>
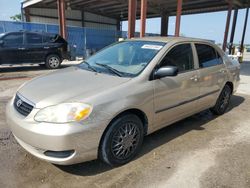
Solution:
<svg viewBox="0 0 250 188">
<path fill-rule="evenodd" d="M 1 61 L 5 63 L 22 63 L 24 62 L 24 43 L 23 33 L 9 33 L 3 38 L 3 45 L 1 46 Z"/>
</svg>

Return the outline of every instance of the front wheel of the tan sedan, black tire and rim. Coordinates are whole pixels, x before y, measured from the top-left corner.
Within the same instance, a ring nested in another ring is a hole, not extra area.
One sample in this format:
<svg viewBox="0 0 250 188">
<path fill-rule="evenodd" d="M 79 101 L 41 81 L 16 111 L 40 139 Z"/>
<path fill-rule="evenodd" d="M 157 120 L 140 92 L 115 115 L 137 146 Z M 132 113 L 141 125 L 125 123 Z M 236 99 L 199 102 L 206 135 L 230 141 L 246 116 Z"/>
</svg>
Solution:
<svg viewBox="0 0 250 188">
<path fill-rule="evenodd" d="M 143 137 L 140 118 L 134 114 L 122 115 L 106 131 L 99 147 L 99 157 L 110 166 L 128 163 L 140 150 Z"/>
</svg>

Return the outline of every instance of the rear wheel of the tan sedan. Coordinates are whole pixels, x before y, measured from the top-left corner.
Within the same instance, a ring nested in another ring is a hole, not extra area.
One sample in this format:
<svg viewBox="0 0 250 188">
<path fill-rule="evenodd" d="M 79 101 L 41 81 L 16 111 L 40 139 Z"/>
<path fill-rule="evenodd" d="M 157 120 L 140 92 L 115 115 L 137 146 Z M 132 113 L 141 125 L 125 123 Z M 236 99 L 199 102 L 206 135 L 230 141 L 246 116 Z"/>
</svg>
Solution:
<svg viewBox="0 0 250 188">
<path fill-rule="evenodd" d="M 215 115 L 224 114 L 230 103 L 231 96 L 232 96 L 232 89 L 230 88 L 229 85 L 225 85 L 225 87 L 221 91 L 219 98 L 217 99 L 215 106 L 211 109 L 211 111 Z"/>
</svg>

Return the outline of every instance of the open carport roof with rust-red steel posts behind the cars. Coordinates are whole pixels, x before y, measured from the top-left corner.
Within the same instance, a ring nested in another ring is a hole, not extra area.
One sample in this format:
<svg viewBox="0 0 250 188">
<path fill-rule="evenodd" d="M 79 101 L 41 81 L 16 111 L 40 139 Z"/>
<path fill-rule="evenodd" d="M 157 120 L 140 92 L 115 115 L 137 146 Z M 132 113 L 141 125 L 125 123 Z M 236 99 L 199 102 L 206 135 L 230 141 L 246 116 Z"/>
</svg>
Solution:
<svg viewBox="0 0 250 188">
<path fill-rule="evenodd" d="M 66 37 L 65 10 L 84 10 L 97 15 L 103 15 L 117 20 L 117 29 L 121 21 L 128 20 L 128 38 L 134 37 L 135 21 L 141 19 L 140 37 L 145 35 L 146 19 L 161 17 L 161 35 L 168 35 L 168 20 L 176 16 L 175 36 L 180 35 L 181 15 L 228 11 L 225 23 L 223 49 L 226 49 L 231 13 L 234 21 L 230 43 L 233 43 L 238 9 L 247 8 L 245 25 L 242 35 L 244 44 L 245 30 L 248 17 L 249 0 L 24 0 L 23 8 L 26 19 L 29 20 L 29 8 L 54 8 L 58 10 L 60 34 Z M 82 17 L 84 19 L 84 17 Z M 198 26 L 197 26 L 198 27 Z M 204 31 L 205 32 L 205 31 Z"/>
</svg>

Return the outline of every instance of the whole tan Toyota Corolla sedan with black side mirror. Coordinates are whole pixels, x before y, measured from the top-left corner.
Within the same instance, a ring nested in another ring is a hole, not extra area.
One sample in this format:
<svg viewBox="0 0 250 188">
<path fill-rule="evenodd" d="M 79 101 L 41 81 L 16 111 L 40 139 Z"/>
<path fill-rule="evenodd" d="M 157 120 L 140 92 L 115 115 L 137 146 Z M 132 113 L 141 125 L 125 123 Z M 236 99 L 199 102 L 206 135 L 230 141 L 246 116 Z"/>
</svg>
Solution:
<svg viewBox="0 0 250 188">
<path fill-rule="evenodd" d="M 225 113 L 239 71 L 206 40 L 125 40 L 20 87 L 7 121 L 18 143 L 40 159 L 122 165 L 146 135 L 206 109 Z"/>
</svg>

